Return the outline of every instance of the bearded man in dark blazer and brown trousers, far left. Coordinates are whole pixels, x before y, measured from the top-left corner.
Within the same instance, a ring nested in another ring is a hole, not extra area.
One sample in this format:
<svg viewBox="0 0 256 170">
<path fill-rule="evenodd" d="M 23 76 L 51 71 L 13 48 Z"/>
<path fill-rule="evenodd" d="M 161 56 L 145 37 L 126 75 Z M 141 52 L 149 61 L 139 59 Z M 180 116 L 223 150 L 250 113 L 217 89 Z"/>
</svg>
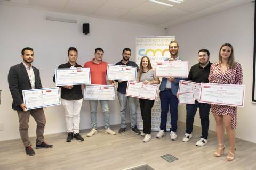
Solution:
<svg viewBox="0 0 256 170">
<path fill-rule="evenodd" d="M 27 155 L 31 156 L 35 155 L 35 151 L 32 149 L 28 137 L 28 122 L 30 115 L 34 117 L 37 123 L 36 149 L 52 148 L 52 145 L 44 142 L 43 134 L 46 120 L 43 108 L 27 111 L 26 105 L 23 102 L 22 90 L 42 89 L 39 70 L 31 65 L 34 60 L 33 49 L 29 47 L 23 48 L 21 57 L 23 61 L 10 68 L 8 73 L 8 83 L 13 98 L 12 109 L 18 112 L 20 137 L 26 148 L 25 151 Z"/>
</svg>

